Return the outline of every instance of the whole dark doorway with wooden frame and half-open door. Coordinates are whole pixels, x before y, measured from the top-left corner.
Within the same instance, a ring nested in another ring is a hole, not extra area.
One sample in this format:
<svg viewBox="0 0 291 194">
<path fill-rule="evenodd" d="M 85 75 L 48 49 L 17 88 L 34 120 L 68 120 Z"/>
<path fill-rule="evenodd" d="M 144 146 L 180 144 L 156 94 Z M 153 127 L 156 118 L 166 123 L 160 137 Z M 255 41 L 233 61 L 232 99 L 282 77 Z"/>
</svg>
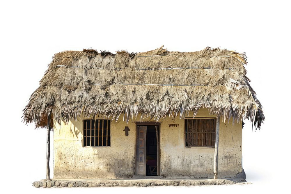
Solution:
<svg viewBox="0 0 291 194">
<path fill-rule="evenodd" d="M 159 176 L 159 123 L 136 123 L 136 175 Z"/>
</svg>

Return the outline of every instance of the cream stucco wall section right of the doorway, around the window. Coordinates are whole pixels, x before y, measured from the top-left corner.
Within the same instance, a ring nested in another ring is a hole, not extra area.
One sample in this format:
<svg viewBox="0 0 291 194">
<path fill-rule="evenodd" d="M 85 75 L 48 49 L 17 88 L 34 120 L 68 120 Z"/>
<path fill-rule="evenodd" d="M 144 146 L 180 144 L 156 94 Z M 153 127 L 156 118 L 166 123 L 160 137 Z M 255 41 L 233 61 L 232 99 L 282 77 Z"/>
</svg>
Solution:
<svg viewBox="0 0 291 194">
<path fill-rule="evenodd" d="M 200 109 L 196 117 L 215 117 Z M 168 122 L 166 122 L 168 123 Z M 184 120 L 179 128 L 161 125 L 161 175 L 168 178 L 213 178 L 214 147 L 185 147 Z M 242 123 L 220 120 L 218 177 L 233 177 L 242 172 Z"/>
</svg>

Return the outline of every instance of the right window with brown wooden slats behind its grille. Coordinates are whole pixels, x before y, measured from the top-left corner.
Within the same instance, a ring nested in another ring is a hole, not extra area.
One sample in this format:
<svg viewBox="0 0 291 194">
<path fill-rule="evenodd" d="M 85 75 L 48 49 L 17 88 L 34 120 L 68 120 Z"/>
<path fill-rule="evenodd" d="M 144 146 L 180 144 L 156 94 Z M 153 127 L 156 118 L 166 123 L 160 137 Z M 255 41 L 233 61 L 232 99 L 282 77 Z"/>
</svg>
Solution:
<svg viewBox="0 0 291 194">
<path fill-rule="evenodd" d="M 185 119 L 185 145 L 215 146 L 216 119 Z"/>
</svg>

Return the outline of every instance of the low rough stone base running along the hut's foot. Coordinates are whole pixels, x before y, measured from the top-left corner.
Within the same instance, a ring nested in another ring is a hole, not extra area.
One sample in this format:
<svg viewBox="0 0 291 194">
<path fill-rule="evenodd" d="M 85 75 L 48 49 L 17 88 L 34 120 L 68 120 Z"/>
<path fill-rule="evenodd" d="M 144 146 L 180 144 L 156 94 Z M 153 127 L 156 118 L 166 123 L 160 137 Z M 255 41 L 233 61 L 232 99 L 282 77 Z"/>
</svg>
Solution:
<svg viewBox="0 0 291 194">
<path fill-rule="evenodd" d="M 64 179 L 41 180 L 32 183 L 34 187 L 112 187 L 112 186 L 199 186 L 251 184 L 250 182 L 236 183 L 226 179 Z"/>
</svg>

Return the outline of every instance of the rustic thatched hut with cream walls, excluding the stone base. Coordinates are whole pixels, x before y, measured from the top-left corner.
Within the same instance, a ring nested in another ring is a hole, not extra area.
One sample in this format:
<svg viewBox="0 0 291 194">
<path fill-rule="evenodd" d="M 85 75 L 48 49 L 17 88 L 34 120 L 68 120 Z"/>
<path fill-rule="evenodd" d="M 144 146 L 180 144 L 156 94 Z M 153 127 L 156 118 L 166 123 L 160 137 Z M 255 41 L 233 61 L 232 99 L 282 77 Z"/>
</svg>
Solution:
<svg viewBox="0 0 291 194">
<path fill-rule="evenodd" d="M 207 47 L 55 54 L 23 120 L 53 130 L 54 178 L 226 178 L 243 173 L 242 127 L 262 105 L 244 53 Z M 47 179 L 49 179 L 47 168 Z"/>
</svg>

